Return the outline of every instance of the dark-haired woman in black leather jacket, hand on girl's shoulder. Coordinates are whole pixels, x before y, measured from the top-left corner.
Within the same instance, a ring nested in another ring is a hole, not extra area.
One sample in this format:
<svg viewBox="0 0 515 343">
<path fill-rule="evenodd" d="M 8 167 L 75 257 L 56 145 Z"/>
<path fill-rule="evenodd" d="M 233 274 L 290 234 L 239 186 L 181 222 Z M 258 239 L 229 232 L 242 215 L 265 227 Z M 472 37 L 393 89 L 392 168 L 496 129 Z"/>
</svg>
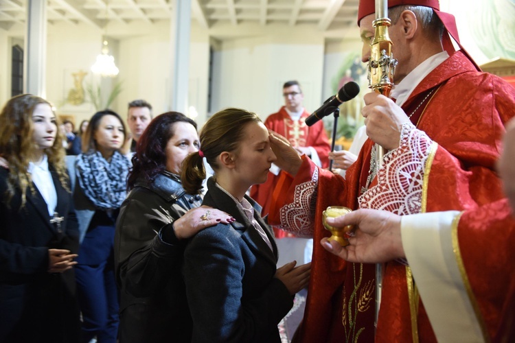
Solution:
<svg viewBox="0 0 515 343">
<path fill-rule="evenodd" d="M 191 342 L 179 239 L 231 221 L 217 210 L 201 220 L 201 196 L 181 185 L 183 160 L 199 144 L 196 123 L 177 112 L 157 116 L 138 141 L 115 234 L 122 343 Z"/>
</svg>

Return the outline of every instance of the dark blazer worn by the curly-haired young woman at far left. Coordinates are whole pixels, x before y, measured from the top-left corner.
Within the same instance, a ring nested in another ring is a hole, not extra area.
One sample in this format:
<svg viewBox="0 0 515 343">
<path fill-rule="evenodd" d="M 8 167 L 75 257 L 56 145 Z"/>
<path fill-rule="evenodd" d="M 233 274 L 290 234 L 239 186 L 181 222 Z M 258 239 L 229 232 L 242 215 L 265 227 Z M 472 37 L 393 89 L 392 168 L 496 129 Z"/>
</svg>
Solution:
<svg viewBox="0 0 515 343">
<path fill-rule="evenodd" d="M 71 194 L 50 166 L 57 193 L 60 230 L 51 224 L 37 187 L 6 202 L 9 171 L 0 168 L 0 342 L 76 342 L 79 314 L 73 269 L 50 274 L 48 249 L 78 252 L 78 224 Z M 68 185 L 69 187 L 69 185 Z M 9 335 L 9 336 L 8 336 Z M 9 337 L 9 338 L 5 338 Z M 5 340 L 5 341 L 4 341 Z"/>
</svg>

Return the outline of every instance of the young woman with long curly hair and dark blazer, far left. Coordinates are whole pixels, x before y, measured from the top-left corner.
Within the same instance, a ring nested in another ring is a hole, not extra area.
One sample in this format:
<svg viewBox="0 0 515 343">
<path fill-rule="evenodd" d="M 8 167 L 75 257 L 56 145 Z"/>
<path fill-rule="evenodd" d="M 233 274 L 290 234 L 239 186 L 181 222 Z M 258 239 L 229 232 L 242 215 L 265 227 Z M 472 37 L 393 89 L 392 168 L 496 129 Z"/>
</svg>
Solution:
<svg viewBox="0 0 515 343">
<path fill-rule="evenodd" d="M 78 342 L 78 229 L 56 115 L 25 94 L 0 122 L 0 342 Z"/>
</svg>

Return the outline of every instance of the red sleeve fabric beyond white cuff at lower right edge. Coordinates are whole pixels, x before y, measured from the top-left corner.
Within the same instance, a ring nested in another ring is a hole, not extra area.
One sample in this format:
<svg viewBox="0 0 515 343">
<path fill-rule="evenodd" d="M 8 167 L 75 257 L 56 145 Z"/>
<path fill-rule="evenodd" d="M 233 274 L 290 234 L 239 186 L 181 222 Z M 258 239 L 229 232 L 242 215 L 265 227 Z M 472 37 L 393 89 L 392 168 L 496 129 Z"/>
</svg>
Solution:
<svg viewBox="0 0 515 343">
<path fill-rule="evenodd" d="M 503 311 L 515 311 L 508 308 L 511 305 L 507 297 L 510 285 L 515 283 L 515 220 L 507 199 L 461 215 L 458 241 L 481 317 L 488 335 L 494 338 Z"/>
</svg>

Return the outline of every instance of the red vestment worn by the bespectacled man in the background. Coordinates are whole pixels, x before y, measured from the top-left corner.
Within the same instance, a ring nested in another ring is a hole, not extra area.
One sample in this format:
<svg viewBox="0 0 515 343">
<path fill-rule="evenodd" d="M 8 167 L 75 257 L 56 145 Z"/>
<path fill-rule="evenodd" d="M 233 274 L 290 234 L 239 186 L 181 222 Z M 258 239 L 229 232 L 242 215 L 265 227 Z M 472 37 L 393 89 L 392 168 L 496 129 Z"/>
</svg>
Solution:
<svg viewBox="0 0 515 343">
<path fill-rule="evenodd" d="M 308 116 L 309 113 L 304 110 L 299 120 L 292 120 L 285 107 L 282 106 L 278 113 L 273 113 L 266 118 L 264 125 L 269 130 L 282 134 L 294 147 L 313 147 L 319 155 L 322 163 L 321 167 L 326 168 L 329 165 L 328 154 L 331 151 L 331 147 L 323 128 L 323 122 L 319 121 L 313 126 L 307 126 L 304 121 Z M 268 214 L 272 192 L 275 189 L 275 185 L 277 185 L 277 180 L 279 180 L 279 176 L 268 173 L 266 182 L 261 185 L 254 185 L 251 188 L 250 196 L 263 207 L 262 215 Z M 274 228 L 274 232 L 277 238 L 296 237 L 276 228 Z"/>
</svg>

